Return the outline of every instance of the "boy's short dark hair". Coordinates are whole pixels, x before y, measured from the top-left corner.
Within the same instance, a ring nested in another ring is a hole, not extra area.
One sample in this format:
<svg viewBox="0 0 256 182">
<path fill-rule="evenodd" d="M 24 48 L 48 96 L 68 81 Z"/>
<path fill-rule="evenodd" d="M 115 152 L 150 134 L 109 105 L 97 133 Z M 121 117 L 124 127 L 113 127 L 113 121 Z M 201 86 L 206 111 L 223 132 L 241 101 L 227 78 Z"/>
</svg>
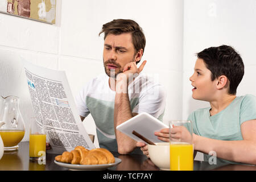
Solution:
<svg viewBox="0 0 256 182">
<path fill-rule="evenodd" d="M 206 67 L 212 72 L 212 81 L 225 75 L 230 82 L 229 94 L 236 95 L 245 67 L 240 54 L 234 48 L 226 45 L 209 47 L 197 53 L 197 57 L 203 59 Z"/>
</svg>

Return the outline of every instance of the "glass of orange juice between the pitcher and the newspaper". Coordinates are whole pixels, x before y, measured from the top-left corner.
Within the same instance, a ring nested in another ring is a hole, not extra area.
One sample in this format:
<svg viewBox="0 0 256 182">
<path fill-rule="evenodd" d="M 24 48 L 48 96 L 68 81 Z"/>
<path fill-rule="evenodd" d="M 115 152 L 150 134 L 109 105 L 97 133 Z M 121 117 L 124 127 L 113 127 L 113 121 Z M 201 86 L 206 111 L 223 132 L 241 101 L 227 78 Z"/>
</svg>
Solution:
<svg viewBox="0 0 256 182">
<path fill-rule="evenodd" d="M 30 160 L 46 160 L 46 131 L 36 118 L 30 121 Z"/>
</svg>

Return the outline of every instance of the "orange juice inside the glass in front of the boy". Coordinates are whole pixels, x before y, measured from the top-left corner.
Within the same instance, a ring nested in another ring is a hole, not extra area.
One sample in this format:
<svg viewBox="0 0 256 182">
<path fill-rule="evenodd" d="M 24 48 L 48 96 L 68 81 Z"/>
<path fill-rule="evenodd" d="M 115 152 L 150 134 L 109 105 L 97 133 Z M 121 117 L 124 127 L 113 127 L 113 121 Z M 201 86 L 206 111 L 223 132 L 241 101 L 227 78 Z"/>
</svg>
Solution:
<svg viewBox="0 0 256 182">
<path fill-rule="evenodd" d="M 192 144 L 170 144 L 170 169 L 171 171 L 193 171 Z"/>
</svg>

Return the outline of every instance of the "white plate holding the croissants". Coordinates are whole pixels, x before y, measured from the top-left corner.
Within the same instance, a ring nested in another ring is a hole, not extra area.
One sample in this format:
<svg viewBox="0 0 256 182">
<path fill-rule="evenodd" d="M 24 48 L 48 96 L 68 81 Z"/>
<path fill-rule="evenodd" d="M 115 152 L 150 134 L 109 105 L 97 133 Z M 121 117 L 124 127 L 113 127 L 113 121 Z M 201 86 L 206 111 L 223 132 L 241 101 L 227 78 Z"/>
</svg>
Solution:
<svg viewBox="0 0 256 182">
<path fill-rule="evenodd" d="M 69 169 L 75 169 L 75 170 L 104 170 L 109 167 L 116 166 L 117 164 L 121 163 L 122 160 L 119 158 L 115 158 L 115 163 L 112 164 L 97 164 L 97 165 L 81 165 L 81 164 L 68 164 L 68 163 L 61 163 L 54 160 L 54 163 L 61 166 L 66 167 Z"/>
</svg>

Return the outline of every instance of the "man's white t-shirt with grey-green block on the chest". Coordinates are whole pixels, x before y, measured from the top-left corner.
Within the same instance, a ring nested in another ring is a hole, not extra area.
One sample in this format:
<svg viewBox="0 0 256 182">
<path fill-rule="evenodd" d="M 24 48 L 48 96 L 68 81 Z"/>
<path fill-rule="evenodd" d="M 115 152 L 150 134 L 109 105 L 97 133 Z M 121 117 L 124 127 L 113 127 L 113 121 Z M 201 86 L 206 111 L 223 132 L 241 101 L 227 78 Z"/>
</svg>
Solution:
<svg viewBox="0 0 256 182">
<path fill-rule="evenodd" d="M 162 121 L 166 101 L 163 86 L 155 83 L 151 77 L 139 75 L 127 90 L 132 113 L 146 112 Z M 115 92 L 110 89 L 109 77 L 104 74 L 93 78 L 82 88 L 76 97 L 76 104 L 82 117 L 92 114 L 100 147 L 117 152 L 114 100 Z M 133 153 L 142 154 L 139 148 Z"/>
</svg>

